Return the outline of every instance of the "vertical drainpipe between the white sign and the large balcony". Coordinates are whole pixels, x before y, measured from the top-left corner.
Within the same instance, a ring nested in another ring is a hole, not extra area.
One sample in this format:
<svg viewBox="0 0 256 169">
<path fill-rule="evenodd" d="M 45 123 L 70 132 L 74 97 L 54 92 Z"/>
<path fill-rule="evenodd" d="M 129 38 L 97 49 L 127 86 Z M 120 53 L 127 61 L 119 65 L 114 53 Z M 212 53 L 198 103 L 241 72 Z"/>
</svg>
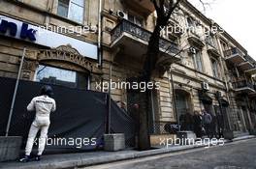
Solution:
<svg viewBox="0 0 256 169">
<path fill-rule="evenodd" d="M 102 0 L 99 0 L 99 12 L 98 12 L 98 64 L 102 66 Z"/>
</svg>

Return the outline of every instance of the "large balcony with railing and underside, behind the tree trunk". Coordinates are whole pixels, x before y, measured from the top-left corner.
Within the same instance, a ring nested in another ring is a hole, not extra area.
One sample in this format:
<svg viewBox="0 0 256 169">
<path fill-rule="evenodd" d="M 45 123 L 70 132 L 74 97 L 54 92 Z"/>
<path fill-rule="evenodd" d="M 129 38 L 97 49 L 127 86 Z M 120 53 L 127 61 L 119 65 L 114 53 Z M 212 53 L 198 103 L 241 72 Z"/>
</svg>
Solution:
<svg viewBox="0 0 256 169">
<path fill-rule="evenodd" d="M 142 61 L 150 36 L 151 32 L 123 19 L 112 29 L 111 48 L 115 49 L 116 53 L 122 57 L 128 56 L 130 60 L 133 58 Z M 177 55 L 179 48 L 174 42 L 161 38 L 159 50 L 161 55 L 159 62 L 162 61 L 167 64 L 180 59 L 180 56 Z"/>
</svg>

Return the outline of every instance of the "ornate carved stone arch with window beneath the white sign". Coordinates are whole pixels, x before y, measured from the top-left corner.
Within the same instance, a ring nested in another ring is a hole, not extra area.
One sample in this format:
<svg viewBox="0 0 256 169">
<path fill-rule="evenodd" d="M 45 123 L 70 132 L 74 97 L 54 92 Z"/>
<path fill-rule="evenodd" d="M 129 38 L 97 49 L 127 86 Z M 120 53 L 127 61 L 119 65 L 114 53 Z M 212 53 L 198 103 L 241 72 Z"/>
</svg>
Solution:
<svg viewBox="0 0 256 169">
<path fill-rule="evenodd" d="M 31 50 L 26 52 L 24 72 L 30 80 L 66 86 L 76 89 L 90 89 L 92 74 L 100 74 L 97 63 L 80 55 L 71 45 L 57 48 Z M 32 67 L 31 67 L 31 66 Z"/>
</svg>

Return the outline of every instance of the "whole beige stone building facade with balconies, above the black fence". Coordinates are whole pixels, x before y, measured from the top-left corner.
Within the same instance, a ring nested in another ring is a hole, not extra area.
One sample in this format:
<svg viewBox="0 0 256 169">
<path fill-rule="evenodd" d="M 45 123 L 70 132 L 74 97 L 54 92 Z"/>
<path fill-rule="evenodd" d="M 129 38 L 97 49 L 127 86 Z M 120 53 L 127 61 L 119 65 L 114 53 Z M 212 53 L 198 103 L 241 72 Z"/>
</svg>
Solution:
<svg viewBox="0 0 256 169">
<path fill-rule="evenodd" d="M 116 84 L 143 70 L 156 22 L 149 0 L 3 0 L 0 19 L 1 76 L 16 78 L 25 51 L 22 79 L 101 92 L 112 81 L 112 99 L 127 102 L 128 112 L 138 101 Z M 255 128 L 255 61 L 217 23 L 184 1 L 161 31 L 159 49 L 151 77 L 159 88 L 151 90 L 148 112 L 152 134 L 168 133 L 168 124 L 202 110 L 216 132 Z"/>
</svg>

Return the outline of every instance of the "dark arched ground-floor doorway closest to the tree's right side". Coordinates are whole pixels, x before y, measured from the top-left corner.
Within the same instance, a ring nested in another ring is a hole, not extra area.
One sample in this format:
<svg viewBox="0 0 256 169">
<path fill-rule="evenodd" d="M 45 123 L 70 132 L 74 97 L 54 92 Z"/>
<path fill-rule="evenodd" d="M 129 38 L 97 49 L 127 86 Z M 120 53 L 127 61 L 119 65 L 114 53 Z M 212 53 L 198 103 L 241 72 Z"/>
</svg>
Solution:
<svg viewBox="0 0 256 169">
<path fill-rule="evenodd" d="M 176 116 L 181 130 L 193 130 L 192 101 L 190 93 L 176 89 Z"/>
</svg>

